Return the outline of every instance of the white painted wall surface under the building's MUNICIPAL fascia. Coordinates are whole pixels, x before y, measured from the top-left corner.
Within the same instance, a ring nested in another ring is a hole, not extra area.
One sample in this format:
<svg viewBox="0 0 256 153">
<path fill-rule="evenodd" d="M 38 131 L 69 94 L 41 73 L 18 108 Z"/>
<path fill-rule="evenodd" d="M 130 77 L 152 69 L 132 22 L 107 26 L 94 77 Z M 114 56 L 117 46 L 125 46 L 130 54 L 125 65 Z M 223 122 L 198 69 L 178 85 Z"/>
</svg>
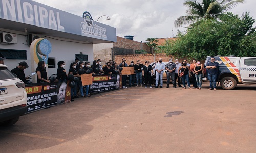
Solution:
<svg viewBox="0 0 256 153">
<path fill-rule="evenodd" d="M 11 70 L 18 66 L 18 63 L 21 61 L 26 61 L 28 65 L 31 65 L 31 57 L 30 57 L 30 47 L 27 45 L 28 36 L 24 32 L 11 31 L 11 30 L 3 30 L 0 29 L 0 32 L 8 31 L 9 33 L 17 34 L 17 44 L 0 44 L 0 49 L 17 49 L 17 50 L 27 50 L 27 60 L 16 60 L 16 59 L 6 59 L 5 65 Z M 55 68 L 48 68 L 48 77 L 51 74 L 57 73 L 57 63 L 58 61 L 65 61 L 65 69 L 68 71 L 70 64 L 75 60 L 75 54 L 79 54 L 82 52 L 83 54 L 88 55 L 88 60 L 93 62 L 93 44 L 83 44 L 82 42 L 61 39 L 61 38 L 49 38 L 45 37 L 47 40 L 51 42 L 52 51 L 49 54 L 49 57 L 55 58 Z M 31 74 L 31 68 L 27 68 L 25 71 L 25 75 Z M 34 71 L 33 71 L 34 72 Z"/>
</svg>

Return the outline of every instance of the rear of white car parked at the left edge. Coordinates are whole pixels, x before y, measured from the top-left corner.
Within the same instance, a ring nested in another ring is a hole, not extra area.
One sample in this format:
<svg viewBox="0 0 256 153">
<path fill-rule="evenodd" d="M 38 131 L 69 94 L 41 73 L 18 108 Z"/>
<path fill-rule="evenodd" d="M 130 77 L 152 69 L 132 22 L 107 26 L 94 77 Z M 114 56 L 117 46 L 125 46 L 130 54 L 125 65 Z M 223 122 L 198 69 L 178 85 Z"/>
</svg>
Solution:
<svg viewBox="0 0 256 153">
<path fill-rule="evenodd" d="M 0 125 L 15 124 L 27 112 L 25 84 L 6 65 L 0 64 Z"/>
</svg>

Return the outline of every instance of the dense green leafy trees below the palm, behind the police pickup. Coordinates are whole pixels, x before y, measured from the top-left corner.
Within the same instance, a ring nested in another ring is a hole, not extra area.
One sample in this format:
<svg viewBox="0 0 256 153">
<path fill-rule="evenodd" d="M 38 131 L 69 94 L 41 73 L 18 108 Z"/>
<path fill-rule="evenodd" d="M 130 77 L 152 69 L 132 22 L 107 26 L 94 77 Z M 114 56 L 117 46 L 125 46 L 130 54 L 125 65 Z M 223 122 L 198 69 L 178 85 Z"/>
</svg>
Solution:
<svg viewBox="0 0 256 153">
<path fill-rule="evenodd" d="M 241 17 L 225 13 L 218 20 L 203 19 L 178 32 L 178 39 L 158 47 L 176 57 L 205 59 L 207 56 L 256 56 L 255 19 L 245 12 Z"/>
</svg>

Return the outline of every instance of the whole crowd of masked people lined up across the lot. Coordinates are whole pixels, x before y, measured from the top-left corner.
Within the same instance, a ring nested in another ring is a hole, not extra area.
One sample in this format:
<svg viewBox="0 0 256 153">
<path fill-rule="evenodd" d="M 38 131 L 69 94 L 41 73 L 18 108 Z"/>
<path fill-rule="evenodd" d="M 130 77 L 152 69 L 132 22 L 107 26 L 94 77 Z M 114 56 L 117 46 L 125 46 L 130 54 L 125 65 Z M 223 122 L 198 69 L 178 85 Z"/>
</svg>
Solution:
<svg viewBox="0 0 256 153">
<path fill-rule="evenodd" d="M 0 64 L 4 64 L 5 58 L 0 58 Z M 80 91 L 81 97 L 90 97 L 90 87 L 89 85 L 83 86 L 81 82 L 81 77 L 79 74 L 79 70 L 83 69 L 84 71 L 91 69 L 93 75 L 114 75 L 121 73 L 122 67 L 134 67 L 135 74 L 131 75 L 122 75 L 122 88 L 126 87 L 126 80 L 127 77 L 129 78 L 129 87 L 136 86 L 142 87 L 142 77 L 144 77 L 144 84 L 145 88 L 149 87 L 152 88 L 153 84 L 153 75 L 156 76 L 156 83 L 155 88 L 163 87 L 163 73 L 166 70 L 167 75 L 167 82 L 166 88 L 169 88 L 170 79 L 172 78 L 173 88 L 182 87 L 186 89 L 186 82 L 189 89 L 199 89 L 202 88 L 202 77 L 203 77 L 203 64 L 200 60 L 193 59 L 193 63 L 189 64 L 187 60 L 183 60 L 181 63 L 178 59 L 173 62 L 172 59 L 169 59 L 167 64 L 162 62 L 162 59 L 155 61 L 152 65 L 149 61 L 145 61 L 144 64 L 141 63 L 140 60 L 130 62 L 130 65 L 126 63 L 126 59 L 123 58 L 122 62 L 118 65 L 115 61 L 109 60 L 106 64 L 102 65 L 102 61 L 100 59 L 94 60 L 93 64 L 89 61 L 83 62 L 80 61 L 78 63 L 78 59 L 75 59 L 75 62 L 70 64 L 69 71 L 66 71 L 65 62 L 59 61 L 57 63 L 57 75 L 55 82 L 66 82 L 68 80 L 68 76 L 72 74 L 74 77 L 77 77 L 79 80 L 75 82 L 74 86 L 71 88 L 71 101 L 74 101 L 75 98 L 79 98 L 78 92 Z M 210 62 L 207 63 L 206 69 L 208 70 L 208 77 L 210 81 L 210 88 L 209 90 L 217 90 L 216 89 L 216 79 L 218 74 L 218 63 L 215 62 L 215 59 L 212 57 Z M 12 69 L 11 72 L 16 74 L 17 77 L 22 80 L 23 82 L 27 82 L 29 77 L 25 77 L 24 70 L 28 68 L 28 64 L 23 61 L 20 62 L 19 65 Z M 50 82 L 47 71 L 46 71 L 46 63 L 44 61 L 39 61 L 37 68 L 37 83 L 42 82 Z M 135 84 L 135 76 L 136 76 L 136 84 Z M 193 78 L 193 87 L 190 85 L 189 78 L 190 76 Z M 181 86 L 181 80 L 182 85 Z M 83 92 L 84 91 L 84 92 Z M 85 95 L 84 95 L 85 93 Z"/>
</svg>

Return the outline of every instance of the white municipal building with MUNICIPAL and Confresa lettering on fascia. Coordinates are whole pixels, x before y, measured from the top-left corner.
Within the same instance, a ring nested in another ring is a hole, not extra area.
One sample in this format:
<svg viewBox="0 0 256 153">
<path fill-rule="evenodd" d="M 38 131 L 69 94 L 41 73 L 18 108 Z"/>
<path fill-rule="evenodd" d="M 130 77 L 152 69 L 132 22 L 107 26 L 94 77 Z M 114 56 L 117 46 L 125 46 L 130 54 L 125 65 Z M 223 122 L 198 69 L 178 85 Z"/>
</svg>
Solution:
<svg viewBox="0 0 256 153">
<path fill-rule="evenodd" d="M 116 42 L 116 29 L 30 0 L 0 1 L 0 56 L 11 70 L 21 61 L 33 64 L 30 44 L 36 38 L 50 41 L 48 77 L 57 73 L 57 62 L 65 61 L 68 71 L 76 58 L 93 62 L 93 44 Z M 34 72 L 31 67 L 25 75 Z"/>
</svg>

